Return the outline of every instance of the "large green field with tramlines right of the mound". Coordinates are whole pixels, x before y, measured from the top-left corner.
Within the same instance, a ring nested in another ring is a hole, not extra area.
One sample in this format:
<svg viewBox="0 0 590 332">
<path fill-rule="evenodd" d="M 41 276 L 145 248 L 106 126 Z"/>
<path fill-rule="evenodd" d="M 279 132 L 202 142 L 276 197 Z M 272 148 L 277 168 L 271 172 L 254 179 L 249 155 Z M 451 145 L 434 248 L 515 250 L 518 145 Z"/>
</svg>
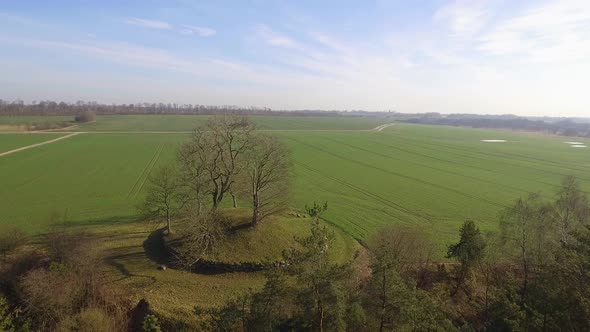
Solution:
<svg viewBox="0 0 590 332">
<path fill-rule="evenodd" d="M 389 223 L 424 228 L 439 243 L 465 219 L 495 230 L 519 196 L 552 195 L 564 175 L 590 180 L 588 151 L 560 138 L 402 124 L 283 136 L 295 156 L 294 204 L 328 200 L 326 218 L 360 239 Z M 509 142 L 480 141 L 489 138 Z"/>
</svg>

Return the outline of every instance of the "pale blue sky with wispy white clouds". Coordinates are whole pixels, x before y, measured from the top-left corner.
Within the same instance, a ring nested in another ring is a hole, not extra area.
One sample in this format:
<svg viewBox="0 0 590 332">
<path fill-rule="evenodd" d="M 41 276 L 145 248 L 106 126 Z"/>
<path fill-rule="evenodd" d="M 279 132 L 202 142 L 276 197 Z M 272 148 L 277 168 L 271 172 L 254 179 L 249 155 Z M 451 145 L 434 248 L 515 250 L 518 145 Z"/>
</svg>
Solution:
<svg viewBox="0 0 590 332">
<path fill-rule="evenodd" d="M 0 0 L 0 98 L 590 116 L 590 1 Z"/>
</svg>

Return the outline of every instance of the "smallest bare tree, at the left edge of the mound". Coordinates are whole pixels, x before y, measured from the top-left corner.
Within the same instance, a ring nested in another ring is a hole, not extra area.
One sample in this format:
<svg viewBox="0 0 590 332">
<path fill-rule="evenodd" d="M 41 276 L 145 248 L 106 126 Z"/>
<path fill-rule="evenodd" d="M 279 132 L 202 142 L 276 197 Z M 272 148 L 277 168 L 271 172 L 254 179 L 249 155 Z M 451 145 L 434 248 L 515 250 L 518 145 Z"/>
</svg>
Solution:
<svg viewBox="0 0 590 332">
<path fill-rule="evenodd" d="M 148 182 L 147 196 L 140 210 L 145 218 L 163 218 L 170 234 L 172 218 L 187 203 L 186 195 L 182 194 L 178 172 L 171 166 L 162 166 L 148 177 Z"/>
</svg>

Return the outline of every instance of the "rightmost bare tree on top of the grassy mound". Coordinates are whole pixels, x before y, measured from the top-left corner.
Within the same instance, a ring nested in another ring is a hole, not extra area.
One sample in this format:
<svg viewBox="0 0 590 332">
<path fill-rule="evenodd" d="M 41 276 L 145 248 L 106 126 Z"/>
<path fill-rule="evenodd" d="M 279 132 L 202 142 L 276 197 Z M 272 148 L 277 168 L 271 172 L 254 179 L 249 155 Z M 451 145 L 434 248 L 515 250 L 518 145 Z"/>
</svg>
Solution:
<svg viewBox="0 0 590 332">
<path fill-rule="evenodd" d="M 252 226 L 284 207 L 287 201 L 290 158 L 276 137 L 259 135 L 248 155 L 252 198 Z"/>
</svg>

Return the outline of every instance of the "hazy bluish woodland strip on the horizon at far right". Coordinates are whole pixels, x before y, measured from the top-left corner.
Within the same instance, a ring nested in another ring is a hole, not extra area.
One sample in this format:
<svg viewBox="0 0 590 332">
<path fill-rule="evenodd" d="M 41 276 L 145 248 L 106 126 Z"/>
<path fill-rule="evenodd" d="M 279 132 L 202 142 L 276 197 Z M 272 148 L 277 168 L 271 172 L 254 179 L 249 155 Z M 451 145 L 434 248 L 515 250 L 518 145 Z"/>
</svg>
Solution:
<svg viewBox="0 0 590 332">
<path fill-rule="evenodd" d="M 568 118 L 525 118 L 514 115 L 473 115 L 426 113 L 402 120 L 407 123 L 495 128 L 544 132 L 561 136 L 590 137 L 590 123 Z"/>
</svg>

